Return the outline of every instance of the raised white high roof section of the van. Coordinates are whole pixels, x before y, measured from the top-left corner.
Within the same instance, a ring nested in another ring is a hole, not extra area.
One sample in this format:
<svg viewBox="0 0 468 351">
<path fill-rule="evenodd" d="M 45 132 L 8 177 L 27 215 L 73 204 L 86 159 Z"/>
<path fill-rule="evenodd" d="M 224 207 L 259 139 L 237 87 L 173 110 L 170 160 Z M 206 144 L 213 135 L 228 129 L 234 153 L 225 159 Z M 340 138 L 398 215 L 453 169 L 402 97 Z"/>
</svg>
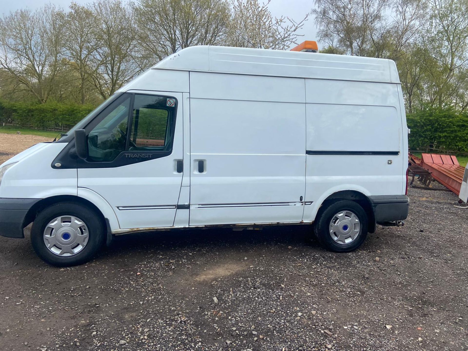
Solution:
<svg viewBox="0 0 468 351">
<path fill-rule="evenodd" d="M 152 69 L 400 82 L 395 62 L 388 59 L 227 46 L 191 46 L 169 55 Z"/>
</svg>

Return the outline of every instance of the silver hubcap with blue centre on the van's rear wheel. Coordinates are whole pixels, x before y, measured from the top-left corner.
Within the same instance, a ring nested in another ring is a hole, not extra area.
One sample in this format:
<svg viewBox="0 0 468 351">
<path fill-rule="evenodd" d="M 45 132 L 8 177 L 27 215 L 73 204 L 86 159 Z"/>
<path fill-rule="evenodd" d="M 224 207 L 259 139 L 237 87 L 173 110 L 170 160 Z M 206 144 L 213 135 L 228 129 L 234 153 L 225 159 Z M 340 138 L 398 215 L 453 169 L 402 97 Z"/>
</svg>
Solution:
<svg viewBox="0 0 468 351">
<path fill-rule="evenodd" d="M 330 221 L 330 236 L 338 244 L 349 244 L 358 237 L 360 230 L 358 216 L 351 211 L 338 212 Z"/>
</svg>

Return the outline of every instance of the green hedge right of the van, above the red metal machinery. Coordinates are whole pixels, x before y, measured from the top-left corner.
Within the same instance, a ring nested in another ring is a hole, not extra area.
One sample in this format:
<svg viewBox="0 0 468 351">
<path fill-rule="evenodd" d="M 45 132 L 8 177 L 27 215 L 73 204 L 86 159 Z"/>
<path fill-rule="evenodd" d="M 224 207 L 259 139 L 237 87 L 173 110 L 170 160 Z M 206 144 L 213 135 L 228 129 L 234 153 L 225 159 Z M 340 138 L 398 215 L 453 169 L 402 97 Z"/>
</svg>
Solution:
<svg viewBox="0 0 468 351">
<path fill-rule="evenodd" d="M 406 115 L 410 150 L 430 145 L 447 151 L 468 152 L 468 113 L 452 108 L 425 108 Z"/>
</svg>

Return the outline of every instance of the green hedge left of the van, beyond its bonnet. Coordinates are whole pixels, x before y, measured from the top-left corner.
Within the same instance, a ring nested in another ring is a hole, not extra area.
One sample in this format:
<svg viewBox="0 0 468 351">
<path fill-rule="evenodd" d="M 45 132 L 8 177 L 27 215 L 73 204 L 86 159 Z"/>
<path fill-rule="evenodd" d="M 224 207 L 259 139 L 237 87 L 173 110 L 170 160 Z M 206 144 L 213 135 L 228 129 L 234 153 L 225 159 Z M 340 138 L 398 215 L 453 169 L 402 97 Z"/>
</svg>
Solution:
<svg viewBox="0 0 468 351">
<path fill-rule="evenodd" d="M 0 125 L 13 124 L 23 128 L 68 130 L 89 112 L 93 105 L 47 102 L 0 102 Z"/>
</svg>

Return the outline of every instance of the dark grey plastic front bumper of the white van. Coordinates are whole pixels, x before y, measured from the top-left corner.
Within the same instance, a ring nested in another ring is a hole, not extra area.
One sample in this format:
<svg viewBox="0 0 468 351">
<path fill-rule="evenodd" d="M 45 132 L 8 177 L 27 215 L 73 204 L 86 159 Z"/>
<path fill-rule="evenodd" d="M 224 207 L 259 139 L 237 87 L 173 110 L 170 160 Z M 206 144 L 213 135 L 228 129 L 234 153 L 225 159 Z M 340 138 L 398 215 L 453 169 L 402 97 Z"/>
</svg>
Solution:
<svg viewBox="0 0 468 351">
<path fill-rule="evenodd" d="M 0 197 L 0 235 L 8 238 L 24 238 L 23 228 L 29 223 L 24 219 L 29 209 L 40 199 Z"/>
</svg>

